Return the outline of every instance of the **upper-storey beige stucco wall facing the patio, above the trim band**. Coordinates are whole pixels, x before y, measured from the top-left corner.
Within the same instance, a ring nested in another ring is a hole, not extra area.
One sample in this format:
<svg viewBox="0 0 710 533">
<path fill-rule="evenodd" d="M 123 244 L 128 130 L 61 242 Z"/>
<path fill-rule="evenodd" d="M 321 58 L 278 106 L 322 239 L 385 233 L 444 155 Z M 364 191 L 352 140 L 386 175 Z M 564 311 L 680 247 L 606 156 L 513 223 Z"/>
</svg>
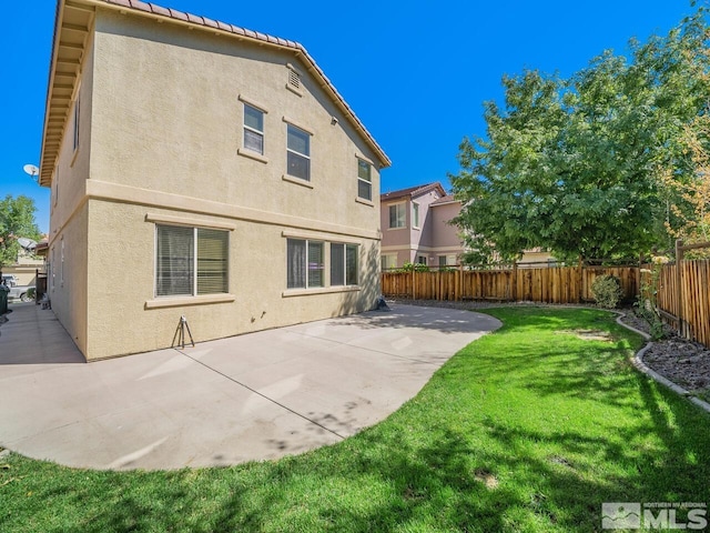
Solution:
<svg viewBox="0 0 710 533">
<path fill-rule="evenodd" d="M 374 154 L 293 54 L 102 10 L 95 41 L 106 60 L 95 63 L 93 140 L 102 149 L 92 179 L 347 227 L 377 212 L 355 201 L 356 154 Z M 286 89 L 287 63 L 303 74 L 302 95 Z M 240 98 L 266 111 L 267 162 L 239 153 Z M 308 183 L 282 179 L 284 118 L 313 133 Z M 373 182 L 376 203 L 376 165 Z"/>
</svg>

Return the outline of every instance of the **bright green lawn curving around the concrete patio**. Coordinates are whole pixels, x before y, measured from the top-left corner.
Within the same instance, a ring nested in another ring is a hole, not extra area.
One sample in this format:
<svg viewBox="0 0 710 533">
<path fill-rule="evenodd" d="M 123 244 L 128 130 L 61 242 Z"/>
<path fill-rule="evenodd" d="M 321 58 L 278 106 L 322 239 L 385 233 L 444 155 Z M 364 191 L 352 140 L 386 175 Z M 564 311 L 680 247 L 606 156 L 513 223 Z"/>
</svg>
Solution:
<svg viewBox="0 0 710 533">
<path fill-rule="evenodd" d="M 602 502 L 710 503 L 710 416 L 632 369 L 637 335 L 602 311 L 486 312 L 504 328 L 334 446 L 175 472 L 11 454 L 0 531 L 591 532 Z"/>
</svg>

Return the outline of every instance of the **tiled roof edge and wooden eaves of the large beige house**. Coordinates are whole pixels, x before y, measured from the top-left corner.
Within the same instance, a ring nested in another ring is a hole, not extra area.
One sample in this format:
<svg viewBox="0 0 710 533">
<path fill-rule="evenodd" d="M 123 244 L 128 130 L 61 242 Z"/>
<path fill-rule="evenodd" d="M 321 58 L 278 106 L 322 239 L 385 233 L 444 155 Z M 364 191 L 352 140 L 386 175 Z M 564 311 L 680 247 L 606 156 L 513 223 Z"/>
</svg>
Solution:
<svg viewBox="0 0 710 533">
<path fill-rule="evenodd" d="M 236 41 L 252 41 L 260 46 L 268 46 L 293 53 L 303 61 L 307 71 L 320 82 L 323 90 L 367 142 L 379 159 L 382 168 L 392 164 L 387 154 L 355 115 L 345 99 L 337 92 L 331 80 L 298 42 L 139 0 L 58 0 L 40 160 L 39 181 L 41 185 L 49 187 L 51 183 L 52 171 L 59 155 L 65 124 L 69 120 L 72 98 L 81 71 L 87 38 L 92 29 L 97 8 L 115 9 L 121 13 L 132 13 L 159 21 L 170 21 L 185 28 L 232 37 Z"/>
</svg>

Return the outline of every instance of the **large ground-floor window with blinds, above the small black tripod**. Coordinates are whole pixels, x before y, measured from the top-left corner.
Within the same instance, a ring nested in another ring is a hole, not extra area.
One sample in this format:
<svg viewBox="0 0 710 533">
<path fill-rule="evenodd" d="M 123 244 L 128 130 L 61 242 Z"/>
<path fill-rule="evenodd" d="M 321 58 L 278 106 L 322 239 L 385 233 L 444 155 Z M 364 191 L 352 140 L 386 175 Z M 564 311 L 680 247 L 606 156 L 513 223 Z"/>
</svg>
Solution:
<svg viewBox="0 0 710 533">
<path fill-rule="evenodd" d="M 229 292 L 229 232 L 155 224 L 155 295 Z"/>
</svg>

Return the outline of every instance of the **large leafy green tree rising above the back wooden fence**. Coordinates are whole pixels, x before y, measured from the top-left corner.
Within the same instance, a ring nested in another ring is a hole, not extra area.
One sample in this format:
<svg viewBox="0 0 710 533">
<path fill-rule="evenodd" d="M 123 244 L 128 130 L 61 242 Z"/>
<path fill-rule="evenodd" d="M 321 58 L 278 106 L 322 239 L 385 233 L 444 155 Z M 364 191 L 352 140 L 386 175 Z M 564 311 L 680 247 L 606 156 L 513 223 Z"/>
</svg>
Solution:
<svg viewBox="0 0 710 533">
<path fill-rule="evenodd" d="M 666 37 L 608 51 L 569 79 L 504 78 L 505 105 L 485 104 L 487 138 L 460 144 L 452 175 L 469 245 L 513 259 L 638 257 L 667 242 L 672 188 L 691 180 L 684 129 L 710 102 L 701 9 Z"/>
</svg>

